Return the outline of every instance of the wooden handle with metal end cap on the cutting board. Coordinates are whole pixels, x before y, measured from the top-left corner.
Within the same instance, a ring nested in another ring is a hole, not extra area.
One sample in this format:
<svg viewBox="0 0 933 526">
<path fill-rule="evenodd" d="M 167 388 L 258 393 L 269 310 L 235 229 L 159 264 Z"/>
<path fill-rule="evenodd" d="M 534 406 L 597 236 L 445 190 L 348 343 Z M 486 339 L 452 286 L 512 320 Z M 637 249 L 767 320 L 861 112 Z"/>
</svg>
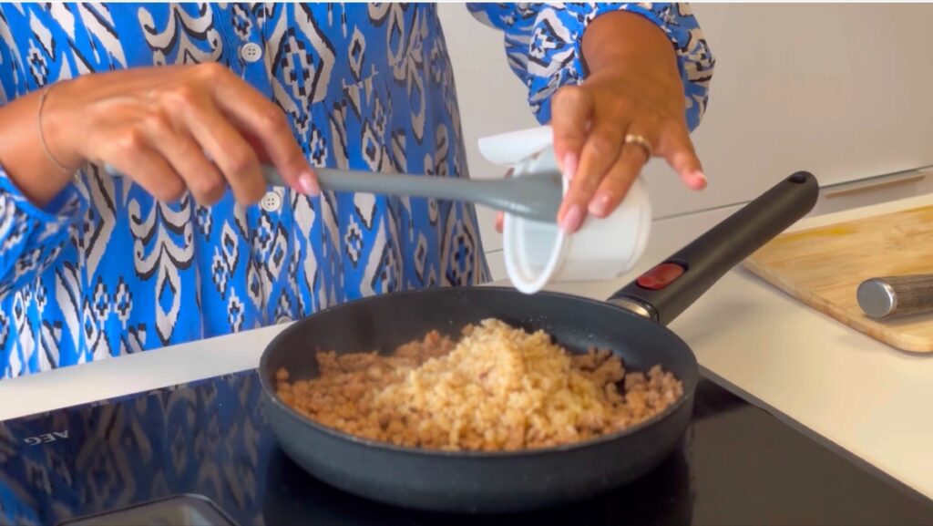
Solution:
<svg viewBox="0 0 933 526">
<path fill-rule="evenodd" d="M 858 285 L 858 306 L 882 319 L 933 310 L 933 274 L 872 277 Z"/>
</svg>

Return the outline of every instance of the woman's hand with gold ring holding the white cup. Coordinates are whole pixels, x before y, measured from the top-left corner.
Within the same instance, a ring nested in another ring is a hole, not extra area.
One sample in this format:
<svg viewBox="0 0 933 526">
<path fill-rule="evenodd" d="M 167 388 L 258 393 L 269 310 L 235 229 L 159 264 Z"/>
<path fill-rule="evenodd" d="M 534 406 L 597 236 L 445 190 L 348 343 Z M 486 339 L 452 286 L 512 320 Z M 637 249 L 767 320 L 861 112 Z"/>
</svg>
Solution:
<svg viewBox="0 0 933 526">
<path fill-rule="evenodd" d="M 551 101 L 554 153 L 571 180 L 558 214 L 564 231 L 576 232 L 587 214 L 609 215 L 651 155 L 702 190 L 706 177 L 667 36 L 639 15 L 606 13 L 587 28 L 583 54 L 590 75 Z"/>
</svg>

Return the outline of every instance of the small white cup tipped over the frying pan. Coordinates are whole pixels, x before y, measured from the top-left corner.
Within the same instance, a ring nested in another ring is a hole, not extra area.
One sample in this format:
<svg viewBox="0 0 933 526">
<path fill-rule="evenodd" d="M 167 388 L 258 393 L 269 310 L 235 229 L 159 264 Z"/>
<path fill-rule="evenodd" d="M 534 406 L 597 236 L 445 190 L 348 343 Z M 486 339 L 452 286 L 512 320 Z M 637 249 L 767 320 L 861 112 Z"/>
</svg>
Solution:
<svg viewBox="0 0 933 526">
<path fill-rule="evenodd" d="M 512 177 L 534 177 L 558 170 L 550 126 L 480 139 L 490 162 L 512 167 Z M 564 179 L 564 193 L 568 182 Z M 548 283 L 600 281 L 632 270 L 648 244 L 651 204 L 648 188 L 637 178 L 622 203 L 605 219 L 588 217 L 578 232 L 566 235 L 556 223 L 506 214 L 503 252 L 508 278 L 525 293 Z"/>
</svg>

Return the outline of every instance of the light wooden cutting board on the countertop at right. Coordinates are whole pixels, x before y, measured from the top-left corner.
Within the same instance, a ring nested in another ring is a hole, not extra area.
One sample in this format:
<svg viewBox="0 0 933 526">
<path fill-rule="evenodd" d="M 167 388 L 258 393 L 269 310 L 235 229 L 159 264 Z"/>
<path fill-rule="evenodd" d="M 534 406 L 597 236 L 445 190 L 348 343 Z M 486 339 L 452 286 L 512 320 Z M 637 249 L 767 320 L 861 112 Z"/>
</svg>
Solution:
<svg viewBox="0 0 933 526">
<path fill-rule="evenodd" d="M 869 277 L 933 274 L 933 206 L 779 235 L 745 266 L 876 340 L 933 352 L 933 315 L 871 320 L 856 302 L 858 284 Z"/>
</svg>

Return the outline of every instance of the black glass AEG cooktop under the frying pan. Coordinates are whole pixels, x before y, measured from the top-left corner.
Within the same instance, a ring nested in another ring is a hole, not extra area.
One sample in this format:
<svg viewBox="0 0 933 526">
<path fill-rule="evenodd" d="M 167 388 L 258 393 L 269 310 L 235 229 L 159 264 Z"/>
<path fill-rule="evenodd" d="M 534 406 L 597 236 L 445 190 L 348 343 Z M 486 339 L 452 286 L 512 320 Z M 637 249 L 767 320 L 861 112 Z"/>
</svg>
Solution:
<svg viewBox="0 0 933 526">
<path fill-rule="evenodd" d="M 425 514 L 328 487 L 276 446 L 260 392 L 247 372 L 0 422 L 0 523 L 933 524 L 933 502 L 708 380 L 682 447 L 648 476 L 505 516 Z"/>
</svg>

